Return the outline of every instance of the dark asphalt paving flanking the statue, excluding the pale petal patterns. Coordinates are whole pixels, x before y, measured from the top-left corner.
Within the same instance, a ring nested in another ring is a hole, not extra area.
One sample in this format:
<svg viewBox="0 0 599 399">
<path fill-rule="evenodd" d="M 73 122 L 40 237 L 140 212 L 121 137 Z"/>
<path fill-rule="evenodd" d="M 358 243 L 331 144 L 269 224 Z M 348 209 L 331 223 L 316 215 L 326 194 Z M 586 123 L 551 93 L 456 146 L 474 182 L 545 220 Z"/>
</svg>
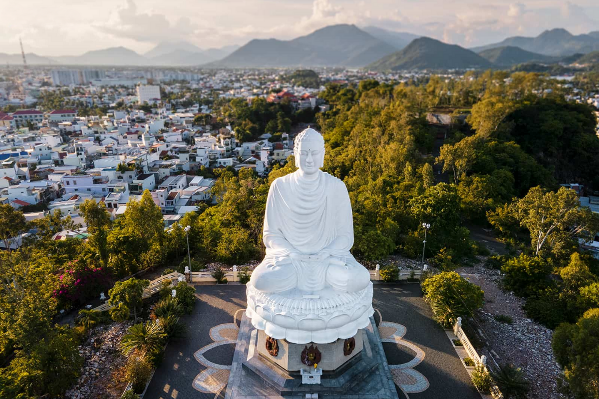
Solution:
<svg viewBox="0 0 599 399">
<path fill-rule="evenodd" d="M 145 399 L 215 397 L 215 393 L 193 388 L 193 380 L 206 369 L 193 354 L 213 342 L 210 328 L 234 322 L 237 310 L 246 306 L 245 286 L 196 286 L 196 297 L 198 302 L 192 315 L 184 318 L 189 328 L 187 336 L 168 344 Z M 430 385 L 423 392 L 409 393 L 410 399 L 480 399 L 443 329 L 432 321 L 430 308 L 420 296 L 418 284 L 376 284 L 373 306 L 380 310 L 382 321 L 404 325 L 407 331 L 403 339 L 418 346 L 425 354 L 422 363 L 414 370 L 422 373 Z M 239 313 L 237 315 L 240 316 Z M 379 313 L 375 314 L 375 319 L 380 324 Z M 235 323 L 238 325 L 238 319 Z M 226 330 L 222 330 L 222 334 L 225 336 Z M 406 346 L 386 342 L 383 347 L 389 364 L 406 363 L 415 357 L 415 352 Z M 233 349 L 232 344 L 220 345 L 206 351 L 204 356 L 210 362 L 226 366 L 231 364 Z M 217 378 L 214 380 L 218 382 Z M 208 379 L 208 382 L 211 380 Z M 400 389 L 398 395 L 406 398 Z"/>
</svg>

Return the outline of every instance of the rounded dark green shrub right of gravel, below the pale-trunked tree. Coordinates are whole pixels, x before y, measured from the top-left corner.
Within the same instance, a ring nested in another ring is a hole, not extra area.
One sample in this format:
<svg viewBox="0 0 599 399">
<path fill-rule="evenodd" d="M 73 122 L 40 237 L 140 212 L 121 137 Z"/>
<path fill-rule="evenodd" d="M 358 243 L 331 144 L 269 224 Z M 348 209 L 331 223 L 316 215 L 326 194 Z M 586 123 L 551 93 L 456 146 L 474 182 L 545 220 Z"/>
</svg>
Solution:
<svg viewBox="0 0 599 399">
<path fill-rule="evenodd" d="M 540 257 L 521 254 L 504 263 L 501 272 L 506 273 L 504 284 L 508 290 L 518 296 L 528 297 L 547 287 L 551 266 Z"/>
</svg>

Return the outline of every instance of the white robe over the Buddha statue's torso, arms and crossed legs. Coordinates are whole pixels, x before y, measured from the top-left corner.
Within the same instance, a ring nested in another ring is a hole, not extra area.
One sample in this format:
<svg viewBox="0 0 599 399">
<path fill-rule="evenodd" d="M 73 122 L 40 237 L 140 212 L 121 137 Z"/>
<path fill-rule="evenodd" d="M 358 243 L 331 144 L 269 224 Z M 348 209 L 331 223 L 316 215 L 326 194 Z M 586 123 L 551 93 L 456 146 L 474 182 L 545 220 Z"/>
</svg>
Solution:
<svg viewBox="0 0 599 399">
<path fill-rule="evenodd" d="M 353 221 L 347 188 L 321 170 L 314 180 L 294 172 L 273 181 L 262 239 L 266 256 L 250 281 L 258 290 L 319 291 L 330 285 L 351 292 L 370 283 L 368 270 L 349 252 Z M 330 256 L 317 258 L 322 252 Z"/>
</svg>

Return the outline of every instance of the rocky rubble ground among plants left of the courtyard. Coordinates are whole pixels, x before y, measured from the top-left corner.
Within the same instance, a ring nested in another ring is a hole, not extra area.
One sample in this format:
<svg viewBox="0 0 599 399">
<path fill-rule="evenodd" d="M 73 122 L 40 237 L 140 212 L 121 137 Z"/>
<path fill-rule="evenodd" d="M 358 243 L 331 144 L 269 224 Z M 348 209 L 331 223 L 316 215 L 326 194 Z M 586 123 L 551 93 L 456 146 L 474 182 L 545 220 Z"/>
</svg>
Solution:
<svg viewBox="0 0 599 399">
<path fill-rule="evenodd" d="M 67 399 L 120 398 L 126 382 L 113 375 L 125 364 L 119 345 L 131 324 L 111 323 L 93 329 L 92 336 L 79 346 L 83 368 L 75 385 L 66 391 Z"/>
</svg>

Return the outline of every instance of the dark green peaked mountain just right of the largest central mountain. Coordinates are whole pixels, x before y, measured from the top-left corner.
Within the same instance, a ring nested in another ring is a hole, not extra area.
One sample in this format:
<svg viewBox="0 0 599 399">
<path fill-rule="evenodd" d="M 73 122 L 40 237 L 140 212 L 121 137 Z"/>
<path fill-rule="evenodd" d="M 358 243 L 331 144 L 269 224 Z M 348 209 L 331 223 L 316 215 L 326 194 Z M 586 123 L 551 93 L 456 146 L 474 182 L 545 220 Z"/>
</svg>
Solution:
<svg viewBox="0 0 599 399">
<path fill-rule="evenodd" d="M 405 69 L 465 69 L 491 68 L 489 60 L 455 44 L 431 38 L 413 40 L 403 50 L 389 54 L 366 68 L 400 71 Z"/>
</svg>

